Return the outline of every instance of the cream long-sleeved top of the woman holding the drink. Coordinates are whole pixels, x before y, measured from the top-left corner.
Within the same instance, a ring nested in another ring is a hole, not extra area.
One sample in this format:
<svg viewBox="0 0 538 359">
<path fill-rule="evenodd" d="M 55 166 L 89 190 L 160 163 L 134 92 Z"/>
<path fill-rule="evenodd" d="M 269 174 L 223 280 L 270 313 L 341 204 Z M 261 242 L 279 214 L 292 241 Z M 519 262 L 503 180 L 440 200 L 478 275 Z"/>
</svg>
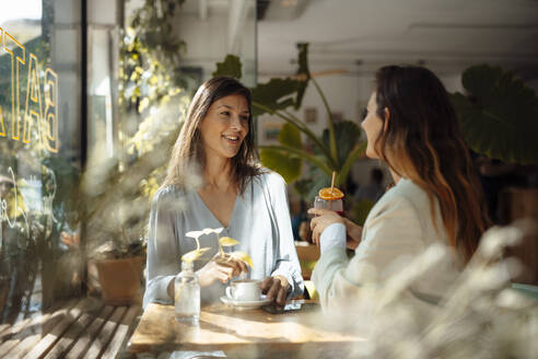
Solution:
<svg viewBox="0 0 538 359">
<path fill-rule="evenodd" d="M 362 241 L 354 256 L 346 254 L 346 228 L 335 223 L 320 236 L 321 256 L 314 268 L 313 281 L 324 309 L 338 310 L 353 303 L 363 285 L 385 286 L 432 244 L 448 245 L 435 198 L 435 230 L 425 190 L 401 178 L 372 208 L 364 223 Z M 405 297 L 419 306 L 437 303 L 455 282 L 460 269 L 452 250 L 433 269 L 409 283 Z M 420 303 L 420 304 L 419 304 Z"/>
</svg>

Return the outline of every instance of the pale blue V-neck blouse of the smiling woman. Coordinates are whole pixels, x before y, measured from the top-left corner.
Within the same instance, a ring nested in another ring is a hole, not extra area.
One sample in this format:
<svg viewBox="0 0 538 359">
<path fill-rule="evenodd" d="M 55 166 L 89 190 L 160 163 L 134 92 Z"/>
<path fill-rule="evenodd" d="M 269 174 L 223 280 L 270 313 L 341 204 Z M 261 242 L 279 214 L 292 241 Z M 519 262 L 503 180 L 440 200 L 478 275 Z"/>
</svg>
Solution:
<svg viewBox="0 0 538 359">
<path fill-rule="evenodd" d="M 180 271 L 182 255 L 196 250 L 195 240 L 185 233 L 221 227 L 196 190 L 184 193 L 168 186 L 155 194 L 149 223 L 144 308 L 150 302 L 172 302 L 166 288 Z M 291 286 L 289 297 L 303 293 L 285 182 L 279 174 L 267 171 L 247 184 L 243 196 L 237 196 L 229 228 L 220 236 L 231 236 L 241 242 L 224 247 L 225 252 L 243 251 L 250 255 L 254 268 L 248 274 L 249 278 L 281 275 Z M 195 270 L 206 265 L 219 248 L 215 234 L 202 235 L 199 241 L 201 247 L 211 250 L 203 255 L 206 259 L 195 262 Z M 202 301 L 217 300 L 224 294 L 224 287 L 217 281 L 202 288 Z"/>
</svg>

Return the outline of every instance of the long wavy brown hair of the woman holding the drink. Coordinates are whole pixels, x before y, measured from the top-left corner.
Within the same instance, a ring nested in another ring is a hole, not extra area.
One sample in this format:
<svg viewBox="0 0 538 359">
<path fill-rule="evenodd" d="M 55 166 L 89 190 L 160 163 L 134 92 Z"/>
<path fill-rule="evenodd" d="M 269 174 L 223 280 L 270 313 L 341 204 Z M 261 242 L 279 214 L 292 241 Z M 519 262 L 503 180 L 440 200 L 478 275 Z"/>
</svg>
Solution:
<svg viewBox="0 0 538 359">
<path fill-rule="evenodd" d="M 435 229 L 434 198 L 449 244 L 467 263 L 491 225 L 478 175 L 454 107 L 438 78 L 422 67 L 387 66 L 376 73 L 377 115 L 388 124 L 374 143 L 397 174 L 428 193 Z"/>
</svg>

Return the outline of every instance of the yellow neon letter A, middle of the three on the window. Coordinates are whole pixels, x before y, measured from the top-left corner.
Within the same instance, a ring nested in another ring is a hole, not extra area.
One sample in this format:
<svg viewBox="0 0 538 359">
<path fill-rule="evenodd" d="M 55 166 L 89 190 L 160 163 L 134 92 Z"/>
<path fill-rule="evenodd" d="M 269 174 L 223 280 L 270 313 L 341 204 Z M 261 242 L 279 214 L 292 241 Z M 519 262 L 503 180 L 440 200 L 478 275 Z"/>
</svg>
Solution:
<svg viewBox="0 0 538 359">
<path fill-rule="evenodd" d="M 37 109 L 31 108 L 33 105 L 37 105 Z M 30 54 L 28 66 L 28 85 L 26 88 L 26 108 L 24 109 L 24 129 L 23 129 L 23 142 L 28 143 L 31 140 L 32 119 L 35 117 L 38 138 L 42 140 L 42 90 L 39 88 L 39 72 L 37 71 L 37 57 L 34 54 Z"/>
</svg>

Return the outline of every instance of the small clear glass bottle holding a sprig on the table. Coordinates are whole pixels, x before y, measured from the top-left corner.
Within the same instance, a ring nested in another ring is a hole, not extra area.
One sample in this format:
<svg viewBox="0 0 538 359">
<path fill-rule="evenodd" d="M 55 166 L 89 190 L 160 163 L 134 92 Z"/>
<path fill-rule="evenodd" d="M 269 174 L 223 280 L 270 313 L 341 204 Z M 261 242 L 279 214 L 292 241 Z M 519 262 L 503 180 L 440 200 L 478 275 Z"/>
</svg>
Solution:
<svg viewBox="0 0 538 359">
<path fill-rule="evenodd" d="M 200 285 L 192 263 L 182 263 L 182 271 L 174 279 L 175 315 L 178 322 L 198 324 L 200 317 Z"/>
</svg>

